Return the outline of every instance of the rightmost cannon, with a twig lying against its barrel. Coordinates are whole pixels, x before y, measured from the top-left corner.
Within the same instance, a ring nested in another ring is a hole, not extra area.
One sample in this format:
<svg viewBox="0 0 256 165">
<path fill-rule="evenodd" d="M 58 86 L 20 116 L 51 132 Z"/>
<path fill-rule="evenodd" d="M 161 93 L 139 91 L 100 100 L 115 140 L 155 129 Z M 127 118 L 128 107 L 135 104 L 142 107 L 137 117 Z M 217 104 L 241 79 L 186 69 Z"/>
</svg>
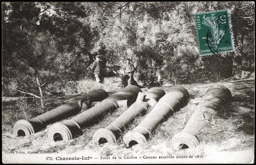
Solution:
<svg viewBox="0 0 256 165">
<path fill-rule="evenodd" d="M 179 149 L 195 148 L 200 143 L 198 133 L 212 119 L 212 116 L 227 102 L 232 94 L 227 87 L 210 87 L 197 105 L 184 129 L 172 137 L 172 147 Z"/>
</svg>

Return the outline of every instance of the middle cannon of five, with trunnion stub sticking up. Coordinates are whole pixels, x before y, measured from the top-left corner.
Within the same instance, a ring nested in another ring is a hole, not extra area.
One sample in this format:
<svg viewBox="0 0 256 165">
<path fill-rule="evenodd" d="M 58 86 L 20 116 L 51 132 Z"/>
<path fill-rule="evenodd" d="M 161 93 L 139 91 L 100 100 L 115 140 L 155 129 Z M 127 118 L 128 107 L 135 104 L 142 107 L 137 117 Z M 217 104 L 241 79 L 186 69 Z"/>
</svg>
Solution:
<svg viewBox="0 0 256 165">
<path fill-rule="evenodd" d="M 164 95 L 164 90 L 158 87 L 149 89 L 146 95 L 139 93 L 137 100 L 129 107 L 127 111 L 122 113 L 122 115 L 120 115 L 110 125 L 105 128 L 101 128 L 94 133 L 93 142 L 98 145 L 104 143 L 113 144 L 129 123 L 133 122 L 137 116 L 145 115 L 149 107 L 146 100 L 154 98 L 154 100 L 158 101 Z"/>
</svg>

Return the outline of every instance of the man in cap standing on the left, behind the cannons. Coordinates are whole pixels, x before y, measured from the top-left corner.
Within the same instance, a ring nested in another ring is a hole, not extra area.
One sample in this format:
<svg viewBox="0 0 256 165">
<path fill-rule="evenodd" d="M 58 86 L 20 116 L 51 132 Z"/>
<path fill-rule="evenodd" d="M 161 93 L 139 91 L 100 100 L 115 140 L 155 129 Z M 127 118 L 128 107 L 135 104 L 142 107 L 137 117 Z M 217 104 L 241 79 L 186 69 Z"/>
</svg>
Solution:
<svg viewBox="0 0 256 165">
<path fill-rule="evenodd" d="M 92 66 L 90 67 L 94 72 L 96 83 L 98 85 L 104 83 L 101 63 L 102 63 L 102 56 L 96 55 L 96 61 L 94 61 Z"/>
</svg>

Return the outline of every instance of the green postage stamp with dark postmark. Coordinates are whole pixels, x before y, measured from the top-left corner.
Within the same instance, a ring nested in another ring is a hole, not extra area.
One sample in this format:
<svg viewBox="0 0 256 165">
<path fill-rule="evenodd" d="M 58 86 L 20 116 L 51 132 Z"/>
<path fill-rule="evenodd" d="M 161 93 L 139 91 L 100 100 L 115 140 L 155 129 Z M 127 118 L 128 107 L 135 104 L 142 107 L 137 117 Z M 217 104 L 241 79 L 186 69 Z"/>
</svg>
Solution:
<svg viewBox="0 0 256 165">
<path fill-rule="evenodd" d="M 228 10 L 195 14 L 200 55 L 234 51 Z"/>
</svg>

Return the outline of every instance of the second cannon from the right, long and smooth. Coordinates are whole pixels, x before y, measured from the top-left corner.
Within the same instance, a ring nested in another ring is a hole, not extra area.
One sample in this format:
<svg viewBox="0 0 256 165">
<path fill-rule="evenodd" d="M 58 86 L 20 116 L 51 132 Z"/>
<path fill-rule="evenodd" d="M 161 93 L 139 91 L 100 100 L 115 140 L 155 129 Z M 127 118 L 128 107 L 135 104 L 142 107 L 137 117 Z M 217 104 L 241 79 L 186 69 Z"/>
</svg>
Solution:
<svg viewBox="0 0 256 165">
<path fill-rule="evenodd" d="M 146 144 L 147 139 L 158 124 L 164 122 L 173 113 L 183 107 L 189 99 L 188 91 L 183 87 L 173 87 L 155 104 L 150 113 L 131 132 L 123 136 L 127 147 Z"/>
</svg>

